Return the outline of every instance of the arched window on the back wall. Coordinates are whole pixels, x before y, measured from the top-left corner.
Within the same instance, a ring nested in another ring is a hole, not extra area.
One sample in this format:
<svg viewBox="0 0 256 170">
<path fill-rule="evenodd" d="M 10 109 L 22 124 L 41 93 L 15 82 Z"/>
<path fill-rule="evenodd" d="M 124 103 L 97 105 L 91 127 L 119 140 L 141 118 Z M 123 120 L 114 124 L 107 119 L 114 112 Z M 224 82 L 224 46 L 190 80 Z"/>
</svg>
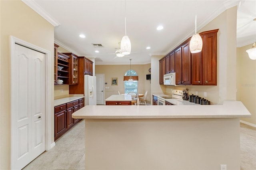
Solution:
<svg viewBox="0 0 256 170">
<path fill-rule="evenodd" d="M 128 71 L 126 71 L 124 76 L 138 77 L 138 74 L 134 70 L 128 70 Z M 138 78 L 136 78 L 136 79 L 138 79 Z M 134 81 L 124 80 L 124 93 L 127 94 L 129 92 L 138 93 L 138 81 L 137 80 L 134 80 Z"/>
</svg>

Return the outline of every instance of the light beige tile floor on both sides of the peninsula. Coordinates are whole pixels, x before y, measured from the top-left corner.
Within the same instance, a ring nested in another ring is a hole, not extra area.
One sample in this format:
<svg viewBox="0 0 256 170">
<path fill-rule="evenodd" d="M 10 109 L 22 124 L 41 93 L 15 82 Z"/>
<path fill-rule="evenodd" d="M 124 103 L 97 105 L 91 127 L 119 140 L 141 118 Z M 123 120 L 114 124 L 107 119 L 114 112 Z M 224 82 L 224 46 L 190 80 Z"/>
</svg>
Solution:
<svg viewBox="0 0 256 170">
<path fill-rule="evenodd" d="M 256 170 L 256 128 L 240 123 L 241 170 Z M 56 141 L 56 146 L 24 170 L 84 170 L 84 121 Z"/>
</svg>

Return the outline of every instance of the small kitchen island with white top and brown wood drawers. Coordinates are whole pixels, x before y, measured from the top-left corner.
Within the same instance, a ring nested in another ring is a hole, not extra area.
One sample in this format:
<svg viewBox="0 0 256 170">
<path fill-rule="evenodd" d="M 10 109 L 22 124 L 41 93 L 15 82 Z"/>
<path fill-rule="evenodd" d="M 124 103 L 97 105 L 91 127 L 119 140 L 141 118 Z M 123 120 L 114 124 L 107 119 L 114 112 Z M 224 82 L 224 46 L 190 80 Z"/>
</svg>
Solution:
<svg viewBox="0 0 256 170">
<path fill-rule="evenodd" d="M 132 105 L 131 95 L 111 95 L 105 99 L 106 105 Z"/>
</svg>

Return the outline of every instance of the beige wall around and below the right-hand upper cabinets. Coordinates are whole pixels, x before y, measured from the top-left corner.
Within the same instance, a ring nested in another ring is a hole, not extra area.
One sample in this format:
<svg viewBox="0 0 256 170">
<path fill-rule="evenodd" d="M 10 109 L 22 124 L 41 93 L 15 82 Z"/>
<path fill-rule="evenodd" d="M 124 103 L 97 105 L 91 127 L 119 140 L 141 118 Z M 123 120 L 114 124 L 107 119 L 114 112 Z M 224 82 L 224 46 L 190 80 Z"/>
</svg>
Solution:
<svg viewBox="0 0 256 170">
<path fill-rule="evenodd" d="M 189 89 L 189 94 L 203 97 L 212 104 L 222 104 L 224 100 L 236 100 L 236 6 L 232 7 L 204 26 L 198 32 L 219 29 L 217 33 L 217 86 L 166 86 L 165 93 L 172 89 Z M 163 86 L 163 85 L 161 85 Z"/>
</svg>

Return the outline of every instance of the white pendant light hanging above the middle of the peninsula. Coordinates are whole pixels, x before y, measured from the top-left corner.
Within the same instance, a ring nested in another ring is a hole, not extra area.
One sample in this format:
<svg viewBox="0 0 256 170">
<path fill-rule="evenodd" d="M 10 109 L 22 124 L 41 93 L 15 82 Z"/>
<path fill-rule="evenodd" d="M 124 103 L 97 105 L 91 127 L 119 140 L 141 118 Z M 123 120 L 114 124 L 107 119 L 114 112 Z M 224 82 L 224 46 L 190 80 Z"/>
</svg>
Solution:
<svg viewBox="0 0 256 170">
<path fill-rule="evenodd" d="M 125 27 L 125 36 L 123 36 L 120 44 L 120 49 L 123 55 L 129 55 L 131 53 L 131 42 L 129 37 L 126 35 L 126 1 L 125 1 L 125 16 L 124 16 L 124 27 Z"/>
</svg>

